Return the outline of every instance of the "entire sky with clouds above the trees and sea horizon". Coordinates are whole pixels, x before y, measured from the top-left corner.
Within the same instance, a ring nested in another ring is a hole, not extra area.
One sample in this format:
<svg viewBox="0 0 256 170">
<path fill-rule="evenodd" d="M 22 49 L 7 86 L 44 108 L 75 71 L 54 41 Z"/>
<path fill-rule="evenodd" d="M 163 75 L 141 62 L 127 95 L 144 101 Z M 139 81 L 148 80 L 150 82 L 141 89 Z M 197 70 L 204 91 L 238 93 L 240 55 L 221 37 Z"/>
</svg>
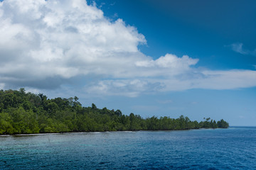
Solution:
<svg viewBox="0 0 256 170">
<path fill-rule="evenodd" d="M 256 1 L 0 1 L 0 89 L 256 126 Z"/>
</svg>

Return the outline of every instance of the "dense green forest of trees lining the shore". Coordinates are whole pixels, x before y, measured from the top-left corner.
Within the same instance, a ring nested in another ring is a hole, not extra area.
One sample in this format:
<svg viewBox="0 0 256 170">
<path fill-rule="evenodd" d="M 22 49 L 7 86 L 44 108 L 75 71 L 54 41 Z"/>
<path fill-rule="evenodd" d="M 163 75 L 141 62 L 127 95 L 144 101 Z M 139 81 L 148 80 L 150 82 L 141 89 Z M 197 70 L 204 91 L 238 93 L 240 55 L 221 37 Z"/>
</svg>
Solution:
<svg viewBox="0 0 256 170">
<path fill-rule="evenodd" d="M 78 97 L 49 99 L 43 94 L 26 93 L 25 89 L 0 91 L 0 134 L 39 132 L 93 132 L 109 130 L 188 130 L 228 128 L 228 123 L 206 118 L 198 123 L 181 115 L 179 118 L 141 118 L 121 111 L 82 107 Z"/>
</svg>

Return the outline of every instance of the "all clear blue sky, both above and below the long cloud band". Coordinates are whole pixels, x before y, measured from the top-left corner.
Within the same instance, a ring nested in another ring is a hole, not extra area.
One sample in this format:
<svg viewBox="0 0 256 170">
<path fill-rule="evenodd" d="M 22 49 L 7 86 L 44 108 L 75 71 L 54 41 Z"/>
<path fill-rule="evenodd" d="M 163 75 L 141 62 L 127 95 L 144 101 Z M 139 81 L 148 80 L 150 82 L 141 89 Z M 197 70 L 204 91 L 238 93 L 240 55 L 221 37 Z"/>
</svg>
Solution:
<svg viewBox="0 0 256 170">
<path fill-rule="evenodd" d="M 198 58 L 197 67 L 255 70 L 256 52 L 241 54 L 232 46 L 242 44 L 244 50 L 256 50 L 255 1 L 110 0 L 96 4 L 113 20 L 123 18 L 137 27 L 147 40 L 140 47 L 146 55 L 157 58 L 171 52 Z M 225 118 L 230 125 L 256 125 L 255 94 L 255 87 L 191 89 L 132 98 L 127 103 L 133 103 L 132 111 L 144 116 L 184 114 L 197 120 L 206 116 Z"/>
</svg>

